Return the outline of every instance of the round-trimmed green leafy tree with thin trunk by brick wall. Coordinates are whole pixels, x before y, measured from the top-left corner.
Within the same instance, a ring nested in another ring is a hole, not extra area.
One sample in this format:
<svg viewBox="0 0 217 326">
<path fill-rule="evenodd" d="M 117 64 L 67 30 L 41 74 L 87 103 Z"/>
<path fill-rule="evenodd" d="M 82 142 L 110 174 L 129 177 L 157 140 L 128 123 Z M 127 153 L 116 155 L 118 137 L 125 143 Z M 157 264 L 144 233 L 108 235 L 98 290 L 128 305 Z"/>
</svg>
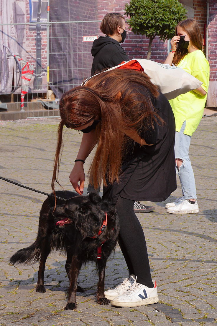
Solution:
<svg viewBox="0 0 217 326">
<path fill-rule="evenodd" d="M 130 0 L 125 10 L 133 33 L 149 38 L 147 59 L 153 39 L 172 38 L 177 23 L 187 18 L 186 9 L 178 0 Z"/>
</svg>

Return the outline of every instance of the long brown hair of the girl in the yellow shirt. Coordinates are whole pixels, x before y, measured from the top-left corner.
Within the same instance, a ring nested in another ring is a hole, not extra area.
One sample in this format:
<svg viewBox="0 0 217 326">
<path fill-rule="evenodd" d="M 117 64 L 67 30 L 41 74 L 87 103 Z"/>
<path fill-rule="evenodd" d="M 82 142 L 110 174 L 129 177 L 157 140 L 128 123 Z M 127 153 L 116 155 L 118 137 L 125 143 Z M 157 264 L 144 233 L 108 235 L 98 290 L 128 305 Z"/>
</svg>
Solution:
<svg viewBox="0 0 217 326">
<path fill-rule="evenodd" d="M 175 27 L 175 35 L 177 35 L 177 27 L 180 26 L 183 28 L 186 33 L 191 38 L 192 45 L 195 46 L 197 49 L 202 50 L 203 47 L 203 39 L 200 32 L 200 28 L 198 23 L 195 21 L 195 19 L 188 18 L 182 22 L 179 22 Z M 174 58 L 173 58 L 173 64 L 177 66 L 177 64 L 181 61 L 184 56 L 188 54 L 188 49 L 182 49 L 177 46 Z"/>
</svg>

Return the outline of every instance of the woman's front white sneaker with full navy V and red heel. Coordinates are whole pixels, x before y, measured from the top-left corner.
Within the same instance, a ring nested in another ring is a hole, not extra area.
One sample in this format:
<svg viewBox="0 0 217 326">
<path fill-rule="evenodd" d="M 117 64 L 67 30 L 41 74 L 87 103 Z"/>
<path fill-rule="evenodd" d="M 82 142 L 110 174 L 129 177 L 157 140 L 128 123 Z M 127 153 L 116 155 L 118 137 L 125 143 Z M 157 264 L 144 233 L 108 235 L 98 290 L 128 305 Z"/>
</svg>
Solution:
<svg viewBox="0 0 217 326">
<path fill-rule="evenodd" d="M 137 279 L 137 278 L 136 278 Z M 157 284 L 154 281 L 154 288 L 150 289 L 145 285 L 136 282 L 136 279 L 124 294 L 111 301 L 116 307 L 139 307 L 144 304 L 155 304 L 159 301 Z"/>
</svg>

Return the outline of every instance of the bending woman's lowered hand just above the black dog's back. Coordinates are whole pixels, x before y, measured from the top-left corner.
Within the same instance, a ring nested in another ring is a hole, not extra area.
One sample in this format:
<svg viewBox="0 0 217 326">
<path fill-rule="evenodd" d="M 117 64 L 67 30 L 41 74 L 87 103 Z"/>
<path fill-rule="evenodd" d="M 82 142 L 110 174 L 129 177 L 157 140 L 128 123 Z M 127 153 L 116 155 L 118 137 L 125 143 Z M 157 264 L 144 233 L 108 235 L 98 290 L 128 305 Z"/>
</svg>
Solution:
<svg viewBox="0 0 217 326">
<path fill-rule="evenodd" d="M 85 181 L 85 173 L 84 173 L 84 165 L 82 162 L 76 162 L 72 172 L 69 175 L 69 180 L 75 189 L 75 191 L 79 194 L 83 194 L 84 190 L 84 181 Z M 80 182 L 80 185 L 78 184 Z"/>
</svg>

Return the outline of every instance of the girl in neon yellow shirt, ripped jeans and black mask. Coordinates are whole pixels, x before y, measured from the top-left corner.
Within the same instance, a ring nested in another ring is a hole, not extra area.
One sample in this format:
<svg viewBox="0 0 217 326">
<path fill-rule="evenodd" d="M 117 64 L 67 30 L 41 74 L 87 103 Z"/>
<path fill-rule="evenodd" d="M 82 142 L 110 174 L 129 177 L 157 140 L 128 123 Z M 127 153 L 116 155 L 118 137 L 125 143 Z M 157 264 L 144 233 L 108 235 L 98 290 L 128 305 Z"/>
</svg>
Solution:
<svg viewBox="0 0 217 326">
<path fill-rule="evenodd" d="M 175 165 L 179 175 L 182 197 L 166 204 L 172 214 L 198 213 L 194 173 L 189 158 L 191 136 L 203 116 L 209 86 L 209 62 L 202 50 L 202 36 L 194 19 L 179 22 L 171 39 L 171 50 L 165 64 L 178 66 L 203 82 L 186 94 L 170 100 L 175 116 Z"/>
</svg>

